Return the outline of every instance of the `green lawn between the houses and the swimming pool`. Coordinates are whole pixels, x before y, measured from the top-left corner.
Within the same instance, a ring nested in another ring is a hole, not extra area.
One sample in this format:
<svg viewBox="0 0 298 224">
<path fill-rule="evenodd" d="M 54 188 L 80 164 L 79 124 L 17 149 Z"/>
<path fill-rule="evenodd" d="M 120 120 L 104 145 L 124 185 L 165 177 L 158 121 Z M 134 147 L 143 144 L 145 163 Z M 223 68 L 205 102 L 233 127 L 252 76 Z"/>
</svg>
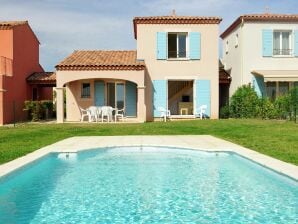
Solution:
<svg viewBox="0 0 298 224">
<path fill-rule="evenodd" d="M 144 124 L 19 124 L 0 127 L 0 164 L 72 136 L 213 135 L 298 165 L 298 125 L 285 121 L 191 120 Z"/>
</svg>

